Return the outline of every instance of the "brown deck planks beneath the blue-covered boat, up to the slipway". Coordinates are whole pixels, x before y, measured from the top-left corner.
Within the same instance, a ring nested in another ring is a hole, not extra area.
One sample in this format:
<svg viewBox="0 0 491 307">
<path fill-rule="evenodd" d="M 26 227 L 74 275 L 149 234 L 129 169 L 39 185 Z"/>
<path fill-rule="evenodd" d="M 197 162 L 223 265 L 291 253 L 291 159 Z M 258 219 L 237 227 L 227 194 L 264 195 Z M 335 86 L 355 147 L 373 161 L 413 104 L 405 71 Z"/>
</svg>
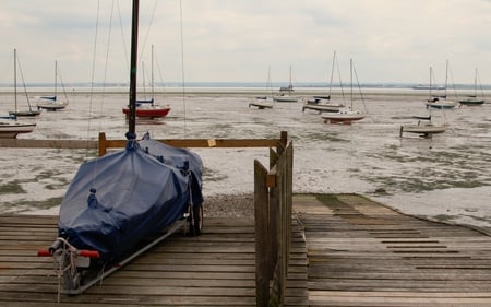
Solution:
<svg viewBox="0 0 491 307">
<path fill-rule="evenodd" d="M 61 306 L 255 306 L 254 224 L 205 217 L 203 235 L 175 234 Z M 295 223 L 295 221 L 294 221 Z M 57 235 L 56 216 L 0 216 L 0 306 L 57 306 L 52 260 L 36 256 Z M 307 252 L 294 225 L 289 306 L 307 306 Z"/>
</svg>

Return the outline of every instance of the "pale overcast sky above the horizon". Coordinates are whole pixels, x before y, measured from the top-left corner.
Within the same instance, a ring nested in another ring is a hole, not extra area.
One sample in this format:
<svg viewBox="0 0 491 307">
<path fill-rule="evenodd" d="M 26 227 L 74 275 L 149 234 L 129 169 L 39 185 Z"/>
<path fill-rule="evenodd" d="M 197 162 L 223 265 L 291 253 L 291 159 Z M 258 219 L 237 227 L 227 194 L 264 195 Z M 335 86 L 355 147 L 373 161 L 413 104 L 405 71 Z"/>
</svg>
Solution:
<svg viewBox="0 0 491 307">
<path fill-rule="evenodd" d="M 128 82 L 130 0 L 0 1 L 0 83 Z M 491 84 L 489 0 L 141 0 L 139 79 Z M 144 72 L 144 73 L 142 73 Z M 268 78 L 270 74 L 270 78 Z M 340 75 L 340 76 L 339 76 Z M 58 81 L 59 82 L 59 81 Z"/>
</svg>

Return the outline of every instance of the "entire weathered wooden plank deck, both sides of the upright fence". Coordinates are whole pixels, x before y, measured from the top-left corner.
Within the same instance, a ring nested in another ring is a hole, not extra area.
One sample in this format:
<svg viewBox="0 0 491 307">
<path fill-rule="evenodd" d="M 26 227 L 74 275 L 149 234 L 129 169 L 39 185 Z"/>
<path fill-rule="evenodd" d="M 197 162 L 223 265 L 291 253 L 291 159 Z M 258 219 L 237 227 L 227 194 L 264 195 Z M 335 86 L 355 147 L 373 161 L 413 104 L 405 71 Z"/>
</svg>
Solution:
<svg viewBox="0 0 491 307">
<path fill-rule="evenodd" d="M 356 194 L 294 196 L 284 306 L 491 306 L 491 238 Z M 0 216 L 0 306 L 255 306 L 254 221 L 205 217 L 77 296 L 58 296 L 57 216 Z M 57 302 L 60 302 L 57 305 Z"/>
</svg>

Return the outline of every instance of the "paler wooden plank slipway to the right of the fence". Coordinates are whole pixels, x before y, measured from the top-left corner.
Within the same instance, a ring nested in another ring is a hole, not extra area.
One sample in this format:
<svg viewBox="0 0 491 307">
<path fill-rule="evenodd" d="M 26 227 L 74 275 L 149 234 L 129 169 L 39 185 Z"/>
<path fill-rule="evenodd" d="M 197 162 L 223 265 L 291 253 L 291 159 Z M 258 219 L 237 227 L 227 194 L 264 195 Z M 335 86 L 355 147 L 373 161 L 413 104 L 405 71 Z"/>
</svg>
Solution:
<svg viewBox="0 0 491 307">
<path fill-rule="evenodd" d="M 482 233 L 359 196 L 301 200 L 294 210 L 306 229 L 309 306 L 491 306 L 491 238 Z"/>
</svg>

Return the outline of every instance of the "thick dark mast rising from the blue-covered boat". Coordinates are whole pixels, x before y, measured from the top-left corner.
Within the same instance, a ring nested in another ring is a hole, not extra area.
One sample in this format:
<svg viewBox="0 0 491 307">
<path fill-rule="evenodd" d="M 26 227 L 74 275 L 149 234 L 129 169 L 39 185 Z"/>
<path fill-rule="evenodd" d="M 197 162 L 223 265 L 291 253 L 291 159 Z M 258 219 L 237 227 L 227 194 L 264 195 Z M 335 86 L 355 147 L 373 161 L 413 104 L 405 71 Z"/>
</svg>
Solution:
<svg viewBox="0 0 491 307">
<path fill-rule="evenodd" d="M 133 0 L 131 23 L 131 60 L 130 60 L 130 118 L 128 133 L 135 134 L 136 126 L 136 54 L 139 43 L 139 0 Z"/>
</svg>

